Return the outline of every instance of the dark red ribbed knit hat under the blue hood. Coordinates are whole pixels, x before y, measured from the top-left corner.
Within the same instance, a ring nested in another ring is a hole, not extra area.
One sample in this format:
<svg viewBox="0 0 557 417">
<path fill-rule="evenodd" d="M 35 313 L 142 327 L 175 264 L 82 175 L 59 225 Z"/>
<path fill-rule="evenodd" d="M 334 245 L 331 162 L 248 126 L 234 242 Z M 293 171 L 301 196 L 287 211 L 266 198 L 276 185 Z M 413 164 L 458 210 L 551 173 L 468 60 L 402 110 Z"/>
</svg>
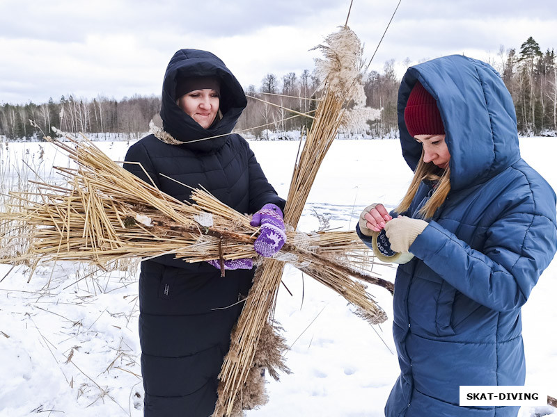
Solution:
<svg viewBox="0 0 557 417">
<path fill-rule="evenodd" d="M 437 102 L 419 81 L 412 88 L 405 108 L 405 124 L 410 136 L 444 135 Z"/>
</svg>

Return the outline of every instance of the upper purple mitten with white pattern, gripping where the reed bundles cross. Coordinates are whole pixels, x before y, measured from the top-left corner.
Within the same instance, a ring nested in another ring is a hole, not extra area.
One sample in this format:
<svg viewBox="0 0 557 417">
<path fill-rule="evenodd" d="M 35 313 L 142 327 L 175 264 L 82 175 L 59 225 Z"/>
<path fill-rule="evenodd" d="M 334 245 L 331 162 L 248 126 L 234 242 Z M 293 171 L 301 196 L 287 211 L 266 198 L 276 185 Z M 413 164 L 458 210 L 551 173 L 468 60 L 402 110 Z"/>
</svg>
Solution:
<svg viewBox="0 0 557 417">
<path fill-rule="evenodd" d="M 261 230 L 253 248 L 260 256 L 272 257 L 286 242 L 283 212 L 275 204 L 265 204 L 253 215 L 252 226 L 260 226 Z"/>
</svg>

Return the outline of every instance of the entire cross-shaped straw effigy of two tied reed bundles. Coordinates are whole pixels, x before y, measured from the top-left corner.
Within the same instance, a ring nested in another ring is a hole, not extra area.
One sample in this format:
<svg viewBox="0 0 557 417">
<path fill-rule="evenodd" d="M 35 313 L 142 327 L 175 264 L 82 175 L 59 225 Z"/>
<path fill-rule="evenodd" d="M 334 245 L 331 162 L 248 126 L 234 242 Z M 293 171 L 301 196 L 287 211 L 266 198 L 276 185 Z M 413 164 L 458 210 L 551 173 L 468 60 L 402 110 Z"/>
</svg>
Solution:
<svg viewBox="0 0 557 417">
<path fill-rule="evenodd" d="M 324 85 L 313 126 L 295 166 L 285 207 L 287 243 L 274 259 L 262 260 L 242 315 L 231 335 L 230 351 L 219 375 L 219 400 L 214 416 L 241 415 L 265 402 L 261 368 L 278 378 L 288 372 L 287 349 L 272 320 L 276 294 L 285 263 L 291 263 L 356 306 L 356 314 L 370 323 L 383 322 L 384 311 L 359 281 L 393 284 L 375 277 L 369 253 L 354 231 L 304 234 L 295 231 L 311 185 L 339 126 L 377 117 L 364 108 L 361 84 L 361 47 L 346 26 L 317 47 Z M 350 107 L 350 110 L 347 108 Z M 86 138 L 70 141 L 47 138 L 65 151 L 77 167 L 57 167 L 65 186 L 36 182 L 36 193 L 10 193 L 17 200 L 0 222 L 15 224 L 2 241 L 22 227 L 25 251 L 9 261 L 81 261 L 104 269 L 123 259 L 175 254 L 187 262 L 256 258 L 253 242 L 258 229 L 250 218 L 222 204 L 204 190 L 192 190 L 193 204 L 165 195 L 111 161 Z M 357 278 L 358 280 L 354 280 Z"/>
</svg>

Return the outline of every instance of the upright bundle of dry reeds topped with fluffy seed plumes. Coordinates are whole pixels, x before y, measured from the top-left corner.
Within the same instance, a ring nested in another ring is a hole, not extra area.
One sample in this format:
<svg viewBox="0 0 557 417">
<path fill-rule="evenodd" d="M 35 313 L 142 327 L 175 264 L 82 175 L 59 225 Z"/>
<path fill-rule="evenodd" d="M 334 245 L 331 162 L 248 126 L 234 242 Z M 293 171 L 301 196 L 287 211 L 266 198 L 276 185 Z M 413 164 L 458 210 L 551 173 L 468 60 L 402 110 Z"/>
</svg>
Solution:
<svg viewBox="0 0 557 417">
<path fill-rule="evenodd" d="M 354 117 L 372 120 L 378 115 L 373 109 L 363 108 L 365 94 L 361 83 L 362 49 L 356 34 L 344 26 L 327 36 L 325 44 L 316 49 L 323 51 L 325 56 L 323 60 L 316 62 L 317 71 L 324 78 L 324 84 L 313 125 L 299 154 L 290 183 L 284 214 L 285 222 L 292 227 L 297 227 L 317 171 L 336 137 L 339 126 L 352 124 L 351 119 Z M 322 268 L 318 272 L 310 272 L 307 268 L 300 269 L 322 281 L 324 276 L 321 274 L 325 263 L 322 262 L 321 265 Z M 265 329 L 267 322 L 272 322 L 283 266 L 283 263 L 269 259 L 265 260 L 263 268 L 258 270 L 237 327 L 233 331 L 230 351 L 219 375 L 219 400 L 214 416 L 237 416 L 241 414 L 242 408 L 247 408 L 242 405 L 244 398 L 249 398 L 250 387 L 246 381 L 253 372 L 251 367 L 260 349 L 258 341 L 262 329 Z M 275 352 L 272 356 L 280 354 Z M 247 392 L 244 393 L 244 390 Z M 249 407 L 251 405 L 248 404 Z"/>
</svg>

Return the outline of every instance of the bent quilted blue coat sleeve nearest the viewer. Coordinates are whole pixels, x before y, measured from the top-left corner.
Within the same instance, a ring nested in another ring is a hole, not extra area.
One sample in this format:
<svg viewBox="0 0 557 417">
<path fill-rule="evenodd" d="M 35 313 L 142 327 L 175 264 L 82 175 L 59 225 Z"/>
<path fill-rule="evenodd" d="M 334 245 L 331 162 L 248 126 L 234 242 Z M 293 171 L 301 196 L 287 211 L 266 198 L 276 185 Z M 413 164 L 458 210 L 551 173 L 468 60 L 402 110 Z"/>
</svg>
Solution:
<svg viewBox="0 0 557 417">
<path fill-rule="evenodd" d="M 409 252 L 472 300 L 496 311 L 526 302 L 557 245 L 555 223 L 547 216 L 511 212 L 487 229 L 483 250 L 430 222 Z"/>
</svg>

